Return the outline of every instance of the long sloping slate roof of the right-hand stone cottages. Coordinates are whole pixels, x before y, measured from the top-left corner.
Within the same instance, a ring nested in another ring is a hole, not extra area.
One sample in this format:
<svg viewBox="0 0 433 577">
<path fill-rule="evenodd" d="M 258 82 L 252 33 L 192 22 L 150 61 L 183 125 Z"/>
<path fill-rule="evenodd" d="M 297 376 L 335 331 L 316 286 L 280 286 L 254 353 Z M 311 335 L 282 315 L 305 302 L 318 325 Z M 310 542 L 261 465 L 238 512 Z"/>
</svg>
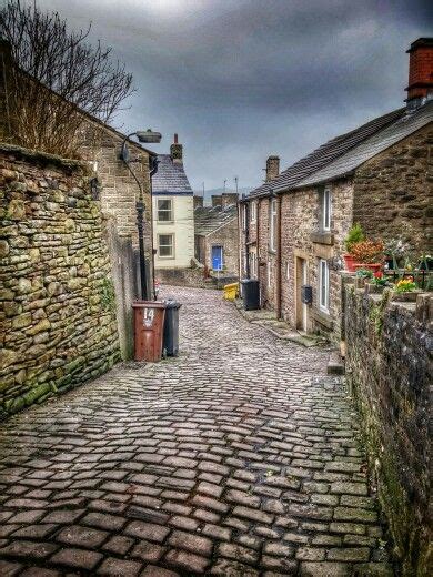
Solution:
<svg viewBox="0 0 433 577">
<path fill-rule="evenodd" d="M 254 189 L 251 196 L 319 184 L 349 174 L 366 160 L 375 156 L 399 140 L 415 132 L 432 120 L 432 104 L 407 113 L 401 108 L 379 117 L 360 128 L 322 144 L 299 160 L 276 179 Z"/>
</svg>

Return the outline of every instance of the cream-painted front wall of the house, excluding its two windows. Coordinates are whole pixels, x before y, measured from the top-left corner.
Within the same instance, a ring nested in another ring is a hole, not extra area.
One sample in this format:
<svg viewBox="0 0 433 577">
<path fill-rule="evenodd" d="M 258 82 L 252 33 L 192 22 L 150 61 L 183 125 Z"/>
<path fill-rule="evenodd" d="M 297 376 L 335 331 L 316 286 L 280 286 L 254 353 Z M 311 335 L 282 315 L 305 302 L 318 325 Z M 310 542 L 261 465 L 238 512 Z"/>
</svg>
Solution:
<svg viewBox="0 0 433 577">
<path fill-rule="evenodd" d="M 158 221 L 158 200 L 173 201 L 173 221 Z M 194 200 L 191 195 L 155 195 L 153 202 L 153 246 L 155 269 L 185 269 L 194 257 Z M 158 235 L 174 234 L 174 255 L 161 257 L 158 252 Z"/>
</svg>

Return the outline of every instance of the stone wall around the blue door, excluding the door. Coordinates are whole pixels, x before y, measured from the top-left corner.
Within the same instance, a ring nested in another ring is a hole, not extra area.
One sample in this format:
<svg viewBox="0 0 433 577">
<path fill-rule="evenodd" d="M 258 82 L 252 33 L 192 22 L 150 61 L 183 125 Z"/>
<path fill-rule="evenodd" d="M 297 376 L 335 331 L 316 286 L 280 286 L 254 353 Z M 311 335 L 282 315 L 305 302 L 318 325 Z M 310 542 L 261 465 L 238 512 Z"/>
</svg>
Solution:
<svg viewBox="0 0 433 577">
<path fill-rule="evenodd" d="M 212 269 L 212 246 L 223 247 L 224 275 L 239 275 L 239 241 L 238 241 L 238 217 L 228 222 L 216 231 L 201 237 L 200 246 L 204 255 L 203 264 Z"/>
</svg>

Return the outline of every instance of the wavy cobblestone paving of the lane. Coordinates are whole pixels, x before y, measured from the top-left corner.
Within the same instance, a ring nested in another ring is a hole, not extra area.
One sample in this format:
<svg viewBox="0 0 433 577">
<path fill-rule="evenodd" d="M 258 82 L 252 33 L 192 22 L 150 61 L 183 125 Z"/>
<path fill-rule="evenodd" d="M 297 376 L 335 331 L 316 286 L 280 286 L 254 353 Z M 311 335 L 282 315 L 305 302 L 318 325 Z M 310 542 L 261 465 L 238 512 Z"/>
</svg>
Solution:
<svg viewBox="0 0 433 577">
<path fill-rule="evenodd" d="M 393 575 L 328 353 L 168 294 L 179 358 L 0 427 L 0 575 Z"/>
</svg>

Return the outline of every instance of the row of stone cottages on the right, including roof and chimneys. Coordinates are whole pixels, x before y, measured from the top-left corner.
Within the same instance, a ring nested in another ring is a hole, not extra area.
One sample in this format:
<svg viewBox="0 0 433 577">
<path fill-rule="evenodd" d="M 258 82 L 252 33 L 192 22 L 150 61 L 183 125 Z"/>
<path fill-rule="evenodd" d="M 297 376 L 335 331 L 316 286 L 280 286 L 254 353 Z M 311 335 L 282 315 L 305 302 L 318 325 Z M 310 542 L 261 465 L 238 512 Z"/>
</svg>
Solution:
<svg viewBox="0 0 433 577">
<path fill-rule="evenodd" d="M 306 332 L 340 333 L 344 239 L 359 222 L 371 237 L 403 236 L 431 251 L 433 40 L 410 49 L 406 107 L 326 142 L 241 202 L 242 274 L 260 281 L 261 304 Z M 421 65 L 421 64 L 422 65 Z M 310 285 L 311 305 L 301 286 Z"/>
</svg>

